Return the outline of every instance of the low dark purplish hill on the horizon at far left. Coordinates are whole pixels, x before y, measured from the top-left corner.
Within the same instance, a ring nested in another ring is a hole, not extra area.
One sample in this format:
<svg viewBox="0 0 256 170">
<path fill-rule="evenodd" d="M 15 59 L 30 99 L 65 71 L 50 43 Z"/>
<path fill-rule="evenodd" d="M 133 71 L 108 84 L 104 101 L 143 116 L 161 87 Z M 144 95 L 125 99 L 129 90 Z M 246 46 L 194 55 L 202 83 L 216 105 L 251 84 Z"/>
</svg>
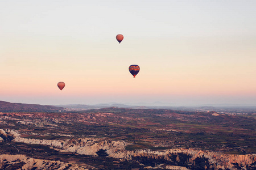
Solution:
<svg viewBox="0 0 256 170">
<path fill-rule="evenodd" d="M 0 112 L 59 112 L 63 107 L 40 104 L 23 104 L 0 101 Z"/>
</svg>

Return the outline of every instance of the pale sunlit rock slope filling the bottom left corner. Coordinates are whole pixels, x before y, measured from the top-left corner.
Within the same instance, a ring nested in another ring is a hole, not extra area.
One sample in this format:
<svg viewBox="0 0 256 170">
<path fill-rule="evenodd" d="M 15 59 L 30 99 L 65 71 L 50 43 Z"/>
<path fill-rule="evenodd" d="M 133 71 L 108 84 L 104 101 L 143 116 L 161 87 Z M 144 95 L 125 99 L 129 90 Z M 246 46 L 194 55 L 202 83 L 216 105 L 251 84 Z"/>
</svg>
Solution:
<svg viewBox="0 0 256 170">
<path fill-rule="evenodd" d="M 0 169 L 88 169 L 77 164 L 28 158 L 25 155 L 0 155 Z"/>
</svg>

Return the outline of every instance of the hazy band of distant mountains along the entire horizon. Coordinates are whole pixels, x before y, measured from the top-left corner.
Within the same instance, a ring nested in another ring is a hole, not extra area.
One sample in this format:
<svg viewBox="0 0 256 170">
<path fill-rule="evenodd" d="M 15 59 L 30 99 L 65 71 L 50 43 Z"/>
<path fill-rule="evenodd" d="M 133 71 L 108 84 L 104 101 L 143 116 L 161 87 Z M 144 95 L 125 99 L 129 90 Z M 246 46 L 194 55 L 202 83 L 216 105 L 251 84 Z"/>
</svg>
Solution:
<svg viewBox="0 0 256 170">
<path fill-rule="evenodd" d="M 67 104 L 67 105 L 40 105 L 40 104 L 23 104 L 23 103 L 10 103 L 6 101 L 0 101 L 0 112 L 69 112 L 69 111 L 83 111 L 89 109 L 102 109 L 102 108 L 129 108 L 129 109 L 172 109 L 178 111 L 222 111 L 223 109 L 230 109 L 236 111 L 237 109 L 243 110 L 255 110 L 256 107 L 213 107 L 208 106 L 198 106 L 198 107 L 169 107 L 169 106 L 159 106 L 159 105 L 127 105 L 120 103 L 102 103 L 95 105 L 86 104 Z"/>
</svg>

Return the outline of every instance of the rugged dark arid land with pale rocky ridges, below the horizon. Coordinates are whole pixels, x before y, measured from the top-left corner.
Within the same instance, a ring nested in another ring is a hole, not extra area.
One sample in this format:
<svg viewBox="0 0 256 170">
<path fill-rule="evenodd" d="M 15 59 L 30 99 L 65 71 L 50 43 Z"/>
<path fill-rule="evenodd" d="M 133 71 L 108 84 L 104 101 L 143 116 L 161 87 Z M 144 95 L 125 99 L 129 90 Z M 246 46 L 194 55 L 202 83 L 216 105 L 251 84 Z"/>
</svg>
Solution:
<svg viewBox="0 0 256 170">
<path fill-rule="evenodd" d="M 0 103 L 0 169 L 256 169 L 256 111 Z"/>
</svg>

